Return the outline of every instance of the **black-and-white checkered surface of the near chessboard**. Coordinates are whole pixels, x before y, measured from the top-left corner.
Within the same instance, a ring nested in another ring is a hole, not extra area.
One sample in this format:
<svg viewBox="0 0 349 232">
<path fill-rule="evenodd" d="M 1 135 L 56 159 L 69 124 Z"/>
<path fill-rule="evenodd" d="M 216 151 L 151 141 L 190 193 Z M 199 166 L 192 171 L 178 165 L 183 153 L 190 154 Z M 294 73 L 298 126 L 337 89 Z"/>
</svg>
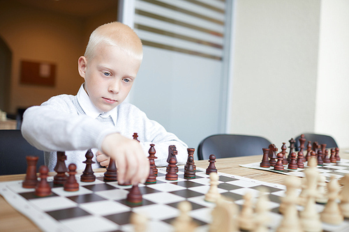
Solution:
<svg viewBox="0 0 349 232">
<path fill-rule="evenodd" d="M 198 224 L 196 231 L 209 231 L 211 210 L 214 203 L 204 200 L 209 190 L 209 178 L 205 169 L 198 168 L 196 178 L 184 179 L 184 169 L 179 167 L 177 181 L 165 180 L 165 169 L 158 169 L 157 183 L 140 185 L 142 206 L 130 206 L 126 195 L 130 186 L 119 186 L 117 182 L 103 182 L 103 173 L 96 173 L 94 183 L 81 183 L 77 192 L 65 192 L 63 187 L 52 186 L 52 196 L 37 197 L 34 190 L 22 188 L 22 181 L 0 183 L 0 194 L 18 211 L 31 219 L 43 231 L 133 231 L 129 222 L 131 212 L 142 212 L 149 217 L 148 231 L 173 231 L 171 222 L 179 215 L 177 204 L 187 200 L 193 210 L 190 215 Z M 280 196 L 285 186 L 258 180 L 218 173 L 218 191 L 235 200 L 242 208 L 243 196 L 251 192 L 253 201 L 259 196 L 259 188 L 269 192 L 270 231 L 275 231 L 281 221 L 279 214 Z M 52 185 L 53 177 L 48 180 Z M 319 212 L 323 206 L 317 205 Z M 302 210 L 302 208 L 299 208 Z M 325 231 L 341 231 L 349 228 L 349 222 L 339 226 L 324 224 Z"/>
</svg>

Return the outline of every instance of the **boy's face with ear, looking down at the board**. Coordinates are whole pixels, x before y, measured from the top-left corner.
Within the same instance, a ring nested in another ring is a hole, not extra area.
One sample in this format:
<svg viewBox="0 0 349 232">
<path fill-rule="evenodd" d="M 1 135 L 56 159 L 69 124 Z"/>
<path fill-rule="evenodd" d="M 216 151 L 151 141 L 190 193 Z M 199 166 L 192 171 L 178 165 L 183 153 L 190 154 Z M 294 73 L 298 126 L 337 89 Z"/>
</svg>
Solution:
<svg viewBox="0 0 349 232">
<path fill-rule="evenodd" d="M 118 47 L 102 45 L 92 59 L 79 58 L 79 73 L 91 102 L 107 112 L 125 100 L 140 68 L 135 59 Z"/>
</svg>

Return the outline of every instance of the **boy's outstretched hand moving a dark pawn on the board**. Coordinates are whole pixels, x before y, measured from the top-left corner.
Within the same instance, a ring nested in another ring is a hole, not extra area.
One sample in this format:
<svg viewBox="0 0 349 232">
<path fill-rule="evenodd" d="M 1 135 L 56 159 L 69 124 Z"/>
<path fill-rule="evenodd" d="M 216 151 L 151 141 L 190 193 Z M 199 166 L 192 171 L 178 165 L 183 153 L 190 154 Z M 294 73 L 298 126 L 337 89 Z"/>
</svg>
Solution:
<svg viewBox="0 0 349 232">
<path fill-rule="evenodd" d="M 109 134 L 102 142 L 102 152 L 115 160 L 119 183 L 131 181 L 136 185 L 147 180 L 149 160 L 135 139 L 128 139 L 119 133 Z"/>
</svg>

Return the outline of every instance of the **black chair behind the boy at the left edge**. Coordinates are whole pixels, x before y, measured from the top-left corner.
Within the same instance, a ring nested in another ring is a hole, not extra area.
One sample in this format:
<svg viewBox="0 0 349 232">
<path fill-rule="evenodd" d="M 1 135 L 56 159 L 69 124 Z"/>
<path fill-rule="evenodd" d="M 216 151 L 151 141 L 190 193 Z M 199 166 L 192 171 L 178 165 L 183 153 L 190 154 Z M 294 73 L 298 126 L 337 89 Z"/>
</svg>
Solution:
<svg viewBox="0 0 349 232">
<path fill-rule="evenodd" d="M 43 150 L 31 146 L 20 130 L 0 130 L 0 175 L 26 173 L 27 155 L 39 157 L 37 167 L 44 164 Z"/>
</svg>

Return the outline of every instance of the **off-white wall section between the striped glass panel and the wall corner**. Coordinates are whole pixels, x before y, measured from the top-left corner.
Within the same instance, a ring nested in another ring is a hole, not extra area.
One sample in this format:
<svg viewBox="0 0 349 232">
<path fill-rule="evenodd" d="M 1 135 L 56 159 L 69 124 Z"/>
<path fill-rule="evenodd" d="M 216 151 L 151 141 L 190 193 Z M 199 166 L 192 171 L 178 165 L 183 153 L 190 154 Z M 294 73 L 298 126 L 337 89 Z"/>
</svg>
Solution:
<svg viewBox="0 0 349 232">
<path fill-rule="evenodd" d="M 314 130 L 320 1 L 237 0 L 230 133 Z"/>
</svg>

